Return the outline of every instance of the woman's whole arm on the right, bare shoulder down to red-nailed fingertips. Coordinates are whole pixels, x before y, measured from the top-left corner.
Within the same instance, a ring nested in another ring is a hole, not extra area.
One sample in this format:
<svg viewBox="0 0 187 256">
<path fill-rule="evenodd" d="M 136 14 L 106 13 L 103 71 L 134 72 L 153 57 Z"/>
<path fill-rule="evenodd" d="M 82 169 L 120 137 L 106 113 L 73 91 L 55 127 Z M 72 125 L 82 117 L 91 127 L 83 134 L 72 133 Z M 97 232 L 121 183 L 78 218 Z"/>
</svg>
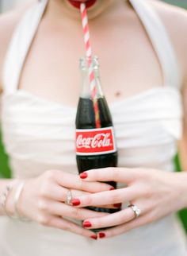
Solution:
<svg viewBox="0 0 187 256">
<path fill-rule="evenodd" d="M 183 170 L 187 170 L 187 13 L 184 10 L 167 7 L 154 1 L 155 8 L 165 22 L 174 42 L 177 52 L 183 87 L 181 95 L 184 106 L 183 136 L 180 142 L 180 159 Z M 162 8 L 162 6 L 164 6 Z M 176 22 L 177 20 L 177 22 Z M 85 219 L 86 228 L 99 229 L 111 227 L 102 231 L 101 238 L 110 238 L 115 235 L 131 231 L 136 227 L 152 223 L 166 215 L 187 208 L 187 173 L 170 173 L 155 169 L 97 169 L 86 172 L 88 182 L 93 180 L 115 180 L 128 184 L 127 188 L 116 189 L 110 192 L 101 192 L 76 199 L 78 207 L 100 204 L 135 204 L 141 214 L 135 219 L 132 208 L 123 208 L 112 215 L 101 218 Z M 73 201 L 74 203 L 74 201 Z M 116 226 L 116 227 L 113 227 Z"/>
</svg>

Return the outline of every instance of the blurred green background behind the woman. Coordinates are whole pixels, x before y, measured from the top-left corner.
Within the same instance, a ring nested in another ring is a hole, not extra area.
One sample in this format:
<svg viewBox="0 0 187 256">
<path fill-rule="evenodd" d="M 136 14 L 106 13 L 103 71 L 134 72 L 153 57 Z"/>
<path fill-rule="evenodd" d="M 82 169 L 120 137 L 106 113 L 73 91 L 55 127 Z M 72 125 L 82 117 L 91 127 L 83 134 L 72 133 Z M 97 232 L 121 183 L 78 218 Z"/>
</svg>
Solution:
<svg viewBox="0 0 187 256">
<path fill-rule="evenodd" d="M 177 1 L 176 0 L 166 0 L 165 2 L 169 2 L 176 6 L 181 6 L 185 9 L 187 9 L 187 0 L 177 0 Z M 0 4 L 1 4 L 1 0 L 0 0 Z M 187 29 L 186 29 L 186 33 L 187 33 Z M 187 46 L 186 46 L 186 48 L 187 48 Z M 177 156 L 175 157 L 174 162 L 176 165 L 176 171 L 181 171 L 180 163 L 179 163 Z M 0 130 L 0 177 L 6 177 L 6 178 L 11 177 L 11 171 L 10 171 L 10 167 L 8 164 L 8 157 L 7 157 L 6 153 L 4 152 L 4 148 L 2 145 L 1 130 Z M 187 233 L 187 210 L 180 211 L 178 213 L 178 215 L 181 218 L 181 221 L 184 224 L 185 231 Z"/>
</svg>

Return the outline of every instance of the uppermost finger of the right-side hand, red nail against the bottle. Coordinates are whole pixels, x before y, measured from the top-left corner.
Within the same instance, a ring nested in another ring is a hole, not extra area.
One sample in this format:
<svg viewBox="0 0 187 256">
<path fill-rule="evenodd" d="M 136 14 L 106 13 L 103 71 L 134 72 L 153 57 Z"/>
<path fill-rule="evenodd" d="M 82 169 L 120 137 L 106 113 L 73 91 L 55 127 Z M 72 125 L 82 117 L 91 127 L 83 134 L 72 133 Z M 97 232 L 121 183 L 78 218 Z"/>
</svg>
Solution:
<svg viewBox="0 0 187 256">
<path fill-rule="evenodd" d="M 80 175 L 86 181 L 116 181 L 121 183 L 131 183 L 139 174 L 138 169 L 127 168 L 103 168 L 91 169 Z"/>
</svg>

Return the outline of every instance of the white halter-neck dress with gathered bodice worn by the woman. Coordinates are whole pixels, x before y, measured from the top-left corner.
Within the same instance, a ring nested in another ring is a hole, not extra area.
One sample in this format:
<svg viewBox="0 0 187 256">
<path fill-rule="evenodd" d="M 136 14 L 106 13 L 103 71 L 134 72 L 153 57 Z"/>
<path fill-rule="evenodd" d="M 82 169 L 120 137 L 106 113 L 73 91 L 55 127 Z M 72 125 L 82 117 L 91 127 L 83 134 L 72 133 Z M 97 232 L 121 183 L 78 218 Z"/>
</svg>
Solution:
<svg viewBox="0 0 187 256">
<path fill-rule="evenodd" d="M 180 73 L 166 31 L 147 0 L 131 0 L 162 65 L 164 87 L 109 105 L 116 128 L 119 166 L 174 171 L 181 136 Z M 25 56 L 47 1 L 37 2 L 17 26 L 6 56 L 2 132 L 13 176 L 48 169 L 78 173 L 74 153 L 76 109 L 17 89 Z M 120 184 L 119 184 L 120 187 Z M 185 233 L 175 215 L 127 234 L 92 241 L 67 231 L 0 218 L 1 256 L 187 256 Z"/>
</svg>

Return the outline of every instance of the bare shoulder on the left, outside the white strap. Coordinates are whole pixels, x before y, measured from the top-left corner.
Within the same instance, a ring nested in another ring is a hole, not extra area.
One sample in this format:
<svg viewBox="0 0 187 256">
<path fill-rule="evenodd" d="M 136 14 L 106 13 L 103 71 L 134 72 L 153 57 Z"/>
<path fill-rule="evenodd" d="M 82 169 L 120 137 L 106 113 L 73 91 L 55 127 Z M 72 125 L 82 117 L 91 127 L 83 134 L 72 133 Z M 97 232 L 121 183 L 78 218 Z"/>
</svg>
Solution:
<svg viewBox="0 0 187 256">
<path fill-rule="evenodd" d="M 32 2 L 34 1 L 35 0 Z M 27 10 L 29 6 L 30 2 L 29 4 L 21 6 L 16 10 L 11 10 L 0 15 L 0 93 L 2 92 L 2 68 L 10 40 L 13 35 L 13 31 L 17 26 L 17 23 L 20 21 L 21 17 L 25 13 L 25 10 Z"/>
</svg>

